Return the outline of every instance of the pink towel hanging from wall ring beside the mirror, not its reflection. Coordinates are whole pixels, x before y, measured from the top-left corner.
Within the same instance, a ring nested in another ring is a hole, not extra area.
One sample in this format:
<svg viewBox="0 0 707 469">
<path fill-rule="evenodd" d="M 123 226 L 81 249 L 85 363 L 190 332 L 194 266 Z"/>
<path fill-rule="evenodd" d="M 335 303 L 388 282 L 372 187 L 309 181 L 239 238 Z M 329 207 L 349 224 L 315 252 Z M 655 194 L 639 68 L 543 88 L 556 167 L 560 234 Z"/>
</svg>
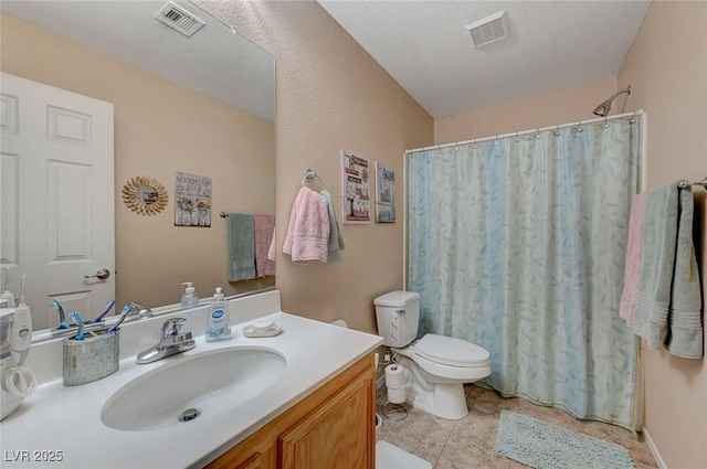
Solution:
<svg viewBox="0 0 707 469">
<path fill-rule="evenodd" d="M 283 253 L 296 264 L 326 263 L 329 251 L 329 214 L 321 195 L 307 186 L 297 193 L 289 215 Z"/>
</svg>

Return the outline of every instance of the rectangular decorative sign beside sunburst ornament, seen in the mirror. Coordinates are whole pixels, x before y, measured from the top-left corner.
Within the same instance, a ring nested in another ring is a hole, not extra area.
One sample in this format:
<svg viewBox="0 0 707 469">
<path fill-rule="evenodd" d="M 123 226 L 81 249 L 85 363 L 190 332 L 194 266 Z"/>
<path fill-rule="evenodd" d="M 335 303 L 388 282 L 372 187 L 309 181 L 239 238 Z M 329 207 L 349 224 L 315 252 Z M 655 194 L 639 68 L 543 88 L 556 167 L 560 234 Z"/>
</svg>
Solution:
<svg viewBox="0 0 707 469">
<path fill-rule="evenodd" d="M 211 178 L 175 172 L 175 226 L 211 226 Z"/>
</svg>

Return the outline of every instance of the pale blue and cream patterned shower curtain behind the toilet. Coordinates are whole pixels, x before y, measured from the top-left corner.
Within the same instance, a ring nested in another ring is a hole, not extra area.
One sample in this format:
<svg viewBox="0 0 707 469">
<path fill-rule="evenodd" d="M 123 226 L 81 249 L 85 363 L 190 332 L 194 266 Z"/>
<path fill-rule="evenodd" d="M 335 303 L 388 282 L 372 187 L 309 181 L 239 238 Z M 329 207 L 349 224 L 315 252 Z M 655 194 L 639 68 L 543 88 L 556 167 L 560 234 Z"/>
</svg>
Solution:
<svg viewBox="0 0 707 469">
<path fill-rule="evenodd" d="M 408 154 L 420 334 L 490 353 L 485 384 L 635 428 L 637 341 L 619 318 L 640 120 Z"/>
</svg>

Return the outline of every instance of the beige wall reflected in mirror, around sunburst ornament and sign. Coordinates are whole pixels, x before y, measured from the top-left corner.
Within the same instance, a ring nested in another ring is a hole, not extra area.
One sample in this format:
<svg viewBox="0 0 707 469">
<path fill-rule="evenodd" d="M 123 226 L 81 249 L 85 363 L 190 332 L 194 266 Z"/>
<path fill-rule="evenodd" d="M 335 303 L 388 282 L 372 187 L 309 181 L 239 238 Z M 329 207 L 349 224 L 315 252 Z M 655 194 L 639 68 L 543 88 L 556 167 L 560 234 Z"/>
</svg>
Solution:
<svg viewBox="0 0 707 469">
<path fill-rule="evenodd" d="M 114 104 L 116 294 L 119 303 L 178 302 L 182 281 L 226 295 L 273 285 L 229 284 L 225 222 L 219 211 L 275 211 L 273 122 L 180 87 L 2 13 L 2 71 Z M 176 99 L 175 97 L 178 96 Z M 173 226 L 175 171 L 212 178 L 210 228 Z M 123 203 L 135 175 L 159 181 L 167 209 L 141 216 Z"/>
</svg>

